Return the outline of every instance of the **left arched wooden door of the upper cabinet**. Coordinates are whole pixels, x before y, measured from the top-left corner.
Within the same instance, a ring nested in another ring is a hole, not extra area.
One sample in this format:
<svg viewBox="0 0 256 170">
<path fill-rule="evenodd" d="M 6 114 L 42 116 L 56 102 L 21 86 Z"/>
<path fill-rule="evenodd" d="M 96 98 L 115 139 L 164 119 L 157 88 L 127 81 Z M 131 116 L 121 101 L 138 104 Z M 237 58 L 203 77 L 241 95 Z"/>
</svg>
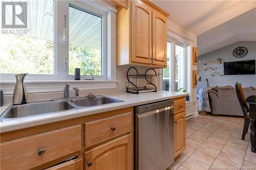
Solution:
<svg viewBox="0 0 256 170">
<path fill-rule="evenodd" d="M 152 10 L 143 2 L 132 3 L 131 62 L 152 63 Z"/>
</svg>

